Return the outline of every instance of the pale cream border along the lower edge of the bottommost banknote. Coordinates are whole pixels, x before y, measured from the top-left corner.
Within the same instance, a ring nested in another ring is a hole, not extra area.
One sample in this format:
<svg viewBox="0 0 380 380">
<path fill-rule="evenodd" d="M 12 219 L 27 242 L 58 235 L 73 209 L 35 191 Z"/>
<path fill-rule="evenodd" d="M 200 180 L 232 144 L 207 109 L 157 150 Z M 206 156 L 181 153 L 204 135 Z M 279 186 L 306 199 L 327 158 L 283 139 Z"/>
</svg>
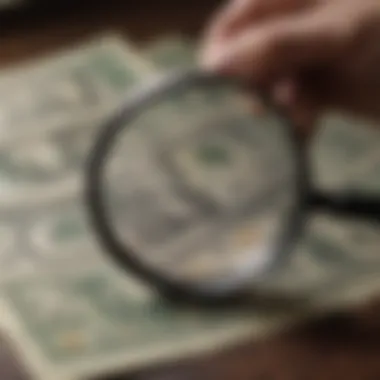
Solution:
<svg viewBox="0 0 380 380">
<path fill-rule="evenodd" d="M 290 315 L 284 318 L 282 315 L 278 319 L 271 319 L 255 326 L 251 322 L 242 323 L 241 321 L 232 322 L 232 327 L 227 332 L 215 332 L 208 337 L 201 336 L 192 340 L 190 343 L 181 342 L 170 344 L 170 347 L 163 348 L 156 346 L 152 350 L 140 350 L 136 354 L 120 353 L 114 355 L 112 359 L 98 361 L 96 365 L 87 359 L 81 364 L 64 366 L 54 366 L 43 358 L 40 348 L 29 339 L 28 334 L 21 326 L 19 318 L 14 315 L 12 309 L 7 305 L 4 298 L 0 298 L 0 313 L 2 319 L 0 325 L 3 331 L 8 334 L 10 346 L 14 348 L 15 354 L 25 365 L 26 370 L 36 380 L 78 380 L 81 378 L 112 374 L 116 372 L 130 372 L 141 369 L 149 365 L 169 363 L 174 360 L 188 359 L 202 354 L 216 353 L 226 348 L 232 348 L 236 344 L 242 344 L 246 340 L 266 338 L 286 325 L 293 323 L 295 318 Z M 54 374 L 54 376 L 52 376 Z M 33 380 L 34 380 L 33 379 Z"/>
</svg>

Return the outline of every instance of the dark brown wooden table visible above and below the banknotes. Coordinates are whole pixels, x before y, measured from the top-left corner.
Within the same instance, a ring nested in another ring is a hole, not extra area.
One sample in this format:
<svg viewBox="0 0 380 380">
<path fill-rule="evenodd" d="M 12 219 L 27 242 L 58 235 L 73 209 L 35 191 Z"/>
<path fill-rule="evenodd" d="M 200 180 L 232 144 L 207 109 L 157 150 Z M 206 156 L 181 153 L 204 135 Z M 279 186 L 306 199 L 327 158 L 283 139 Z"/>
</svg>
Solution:
<svg viewBox="0 0 380 380">
<path fill-rule="evenodd" d="M 53 1 L 51 1 L 52 3 Z M 0 64 L 11 65 L 95 32 L 116 29 L 136 41 L 181 31 L 196 35 L 220 1 L 66 2 L 59 10 L 0 15 Z M 135 380 L 379 380 L 380 306 L 297 326 L 265 342 L 120 376 Z M 0 344 L 0 379 L 26 380 Z M 51 379 L 54 380 L 54 379 Z"/>
</svg>

